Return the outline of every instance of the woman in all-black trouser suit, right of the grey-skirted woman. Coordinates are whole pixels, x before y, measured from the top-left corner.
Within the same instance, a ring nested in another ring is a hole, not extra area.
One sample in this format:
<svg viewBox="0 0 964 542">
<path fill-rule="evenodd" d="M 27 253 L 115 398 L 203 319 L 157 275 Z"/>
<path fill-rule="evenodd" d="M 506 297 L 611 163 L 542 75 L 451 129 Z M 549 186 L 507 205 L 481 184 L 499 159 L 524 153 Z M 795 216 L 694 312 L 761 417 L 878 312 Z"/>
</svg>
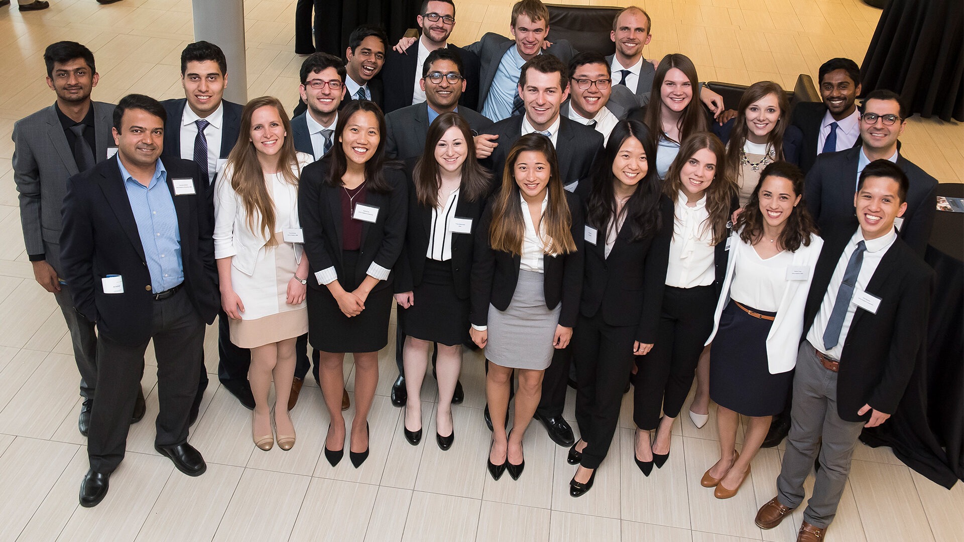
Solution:
<svg viewBox="0 0 964 542">
<path fill-rule="evenodd" d="M 583 229 L 585 273 L 573 346 L 579 465 L 570 495 L 593 485 L 619 420 L 633 355 L 656 341 L 673 208 L 659 189 L 656 147 L 638 121 L 616 124 L 596 162 Z"/>
</svg>

